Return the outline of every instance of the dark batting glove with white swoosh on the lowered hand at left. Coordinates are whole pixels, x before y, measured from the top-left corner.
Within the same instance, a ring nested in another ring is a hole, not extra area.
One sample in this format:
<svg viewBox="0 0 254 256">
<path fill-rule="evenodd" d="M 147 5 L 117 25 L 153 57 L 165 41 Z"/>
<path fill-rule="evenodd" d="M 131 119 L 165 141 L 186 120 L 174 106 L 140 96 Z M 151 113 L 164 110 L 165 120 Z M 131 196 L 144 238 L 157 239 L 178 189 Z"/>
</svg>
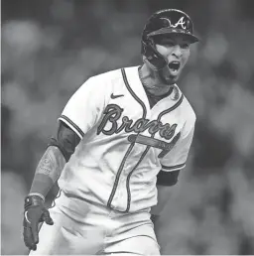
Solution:
<svg viewBox="0 0 254 256">
<path fill-rule="evenodd" d="M 25 211 L 23 220 L 23 236 L 26 246 L 36 251 L 39 243 L 39 223 L 46 222 L 53 225 L 49 210 L 44 205 L 44 200 L 38 195 L 28 195 L 25 198 Z"/>
</svg>

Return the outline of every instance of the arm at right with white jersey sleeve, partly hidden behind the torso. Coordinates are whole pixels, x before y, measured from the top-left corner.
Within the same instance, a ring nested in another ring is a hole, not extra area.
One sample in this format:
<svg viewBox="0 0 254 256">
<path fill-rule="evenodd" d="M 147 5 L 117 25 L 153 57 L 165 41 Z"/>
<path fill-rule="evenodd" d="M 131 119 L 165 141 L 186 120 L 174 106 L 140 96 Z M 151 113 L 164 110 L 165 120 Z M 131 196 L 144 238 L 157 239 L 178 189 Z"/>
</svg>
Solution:
<svg viewBox="0 0 254 256">
<path fill-rule="evenodd" d="M 152 219 L 156 220 L 172 196 L 179 174 L 186 167 L 194 133 L 194 122 L 187 123 L 179 141 L 171 152 L 161 159 L 162 170 L 157 176 L 158 203 L 152 207 Z"/>
</svg>

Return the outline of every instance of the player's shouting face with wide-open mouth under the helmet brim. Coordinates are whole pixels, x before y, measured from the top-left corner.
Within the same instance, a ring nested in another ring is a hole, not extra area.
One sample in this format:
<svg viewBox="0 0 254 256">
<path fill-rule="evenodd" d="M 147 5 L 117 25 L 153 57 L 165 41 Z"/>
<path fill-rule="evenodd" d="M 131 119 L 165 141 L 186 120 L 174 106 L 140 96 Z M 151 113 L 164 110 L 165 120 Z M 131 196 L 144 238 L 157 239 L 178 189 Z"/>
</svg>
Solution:
<svg viewBox="0 0 254 256">
<path fill-rule="evenodd" d="M 157 51 L 168 61 L 161 74 L 168 82 L 178 80 L 190 57 L 190 42 L 182 36 L 164 37 L 156 42 Z"/>
</svg>

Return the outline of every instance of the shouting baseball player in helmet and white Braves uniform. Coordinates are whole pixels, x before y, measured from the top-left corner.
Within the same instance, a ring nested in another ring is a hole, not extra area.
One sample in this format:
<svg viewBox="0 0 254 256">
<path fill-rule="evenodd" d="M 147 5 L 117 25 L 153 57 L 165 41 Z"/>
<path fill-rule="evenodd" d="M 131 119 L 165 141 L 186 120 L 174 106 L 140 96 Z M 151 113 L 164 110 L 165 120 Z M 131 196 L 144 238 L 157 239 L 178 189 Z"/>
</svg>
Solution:
<svg viewBox="0 0 254 256">
<path fill-rule="evenodd" d="M 178 182 L 194 131 L 176 84 L 198 41 L 192 30 L 185 12 L 156 12 L 142 33 L 143 65 L 92 76 L 70 97 L 25 198 L 31 255 L 160 254 L 151 214 Z"/>
</svg>

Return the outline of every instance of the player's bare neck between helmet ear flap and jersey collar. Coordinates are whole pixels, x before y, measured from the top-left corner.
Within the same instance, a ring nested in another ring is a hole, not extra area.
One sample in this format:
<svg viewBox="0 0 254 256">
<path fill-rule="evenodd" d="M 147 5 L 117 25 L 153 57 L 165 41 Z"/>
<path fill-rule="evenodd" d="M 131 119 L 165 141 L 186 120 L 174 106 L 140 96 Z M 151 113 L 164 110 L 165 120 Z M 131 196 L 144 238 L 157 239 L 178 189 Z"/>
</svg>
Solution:
<svg viewBox="0 0 254 256">
<path fill-rule="evenodd" d="M 146 89 L 154 95 L 167 93 L 173 84 L 166 83 L 158 71 L 153 70 L 147 64 L 140 68 L 140 79 Z"/>
</svg>

